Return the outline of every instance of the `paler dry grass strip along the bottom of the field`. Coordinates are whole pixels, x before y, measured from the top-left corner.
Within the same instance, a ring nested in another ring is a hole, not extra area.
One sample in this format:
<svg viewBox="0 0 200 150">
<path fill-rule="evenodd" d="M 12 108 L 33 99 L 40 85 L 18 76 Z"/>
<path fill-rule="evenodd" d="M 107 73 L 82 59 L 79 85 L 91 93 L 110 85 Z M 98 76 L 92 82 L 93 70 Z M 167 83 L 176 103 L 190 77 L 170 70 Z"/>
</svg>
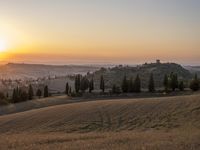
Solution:
<svg viewBox="0 0 200 150">
<path fill-rule="evenodd" d="M 0 136 L 0 149 L 36 150 L 199 150 L 200 132 L 122 131 L 19 133 Z"/>
</svg>

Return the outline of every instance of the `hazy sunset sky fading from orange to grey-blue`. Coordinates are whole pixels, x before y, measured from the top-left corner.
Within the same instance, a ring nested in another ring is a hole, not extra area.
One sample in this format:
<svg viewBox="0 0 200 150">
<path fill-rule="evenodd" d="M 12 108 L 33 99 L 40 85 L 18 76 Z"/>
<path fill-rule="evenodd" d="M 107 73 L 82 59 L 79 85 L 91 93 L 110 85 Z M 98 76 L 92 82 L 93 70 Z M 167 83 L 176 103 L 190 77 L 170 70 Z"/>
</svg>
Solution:
<svg viewBox="0 0 200 150">
<path fill-rule="evenodd" d="M 0 0 L 0 61 L 200 64 L 199 0 Z"/>
</svg>

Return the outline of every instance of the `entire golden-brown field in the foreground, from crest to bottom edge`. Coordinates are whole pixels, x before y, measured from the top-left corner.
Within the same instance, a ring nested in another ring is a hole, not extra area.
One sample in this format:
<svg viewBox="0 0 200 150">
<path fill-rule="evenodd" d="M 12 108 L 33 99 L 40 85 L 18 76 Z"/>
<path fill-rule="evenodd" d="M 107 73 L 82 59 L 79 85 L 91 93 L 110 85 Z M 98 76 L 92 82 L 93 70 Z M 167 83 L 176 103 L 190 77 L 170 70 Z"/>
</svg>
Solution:
<svg viewBox="0 0 200 150">
<path fill-rule="evenodd" d="M 103 100 L 0 116 L 0 149 L 200 149 L 200 95 Z"/>
</svg>

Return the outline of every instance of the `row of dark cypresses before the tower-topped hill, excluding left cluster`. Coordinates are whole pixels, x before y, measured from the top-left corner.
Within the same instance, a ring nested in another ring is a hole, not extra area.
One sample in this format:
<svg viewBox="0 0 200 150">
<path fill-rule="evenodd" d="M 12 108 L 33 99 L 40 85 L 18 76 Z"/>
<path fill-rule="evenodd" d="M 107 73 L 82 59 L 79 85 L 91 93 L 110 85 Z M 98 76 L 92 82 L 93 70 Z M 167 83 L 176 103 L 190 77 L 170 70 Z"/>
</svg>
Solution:
<svg viewBox="0 0 200 150">
<path fill-rule="evenodd" d="M 105 92 L 105 80 L 104 76 L 101 75 L 100 81 L 99 81 L 99 90 L 101 90 L 102 93 Z M 72 92 L 71 87 L 69 84 L 66 84 L 66 94 L 70 95 L 73 93 L 85 93 L 87 90 L 89 93 L 92 93 L 94 90 L 94 80 L 93 78 L 91 80 L 87 79 L 86 76 L 82 75 L 76 75 L 75 76 L 75 82 L 74 82 L 75 91 Z M 178 75 L 176 73 L 170 73 L 166 74 L 163 79 L 163 87 L 165 92 L 175 91 L 179 89 L 179 91 L 184 91 L 186 88 L 186 85 L 183 80 L 178 79 Z M 195 74 L 194 78 L 190 82 L 189 85 L 190 89 L 193 91 L 198 91 L 200 88 L 200 81 L 197 77 L 197 74 Z M 156 92 L 156 86 L 154 81 L 154 75 L 153 73 L 150 74 L 149 82 L 148 82 L 148 91 L 153 93 Z M 117 93 L 140 93 L 142 91 L 141 86 L 141 79 L 139 74 L 135 77 L 135 79 L 130 78 L 128 79 L 125 75 L 123 77 L 122 83 L 120 86 L 117 86 L 116 84 L 113 84 L 111 92 L 114 94 Z"/>
</svg>

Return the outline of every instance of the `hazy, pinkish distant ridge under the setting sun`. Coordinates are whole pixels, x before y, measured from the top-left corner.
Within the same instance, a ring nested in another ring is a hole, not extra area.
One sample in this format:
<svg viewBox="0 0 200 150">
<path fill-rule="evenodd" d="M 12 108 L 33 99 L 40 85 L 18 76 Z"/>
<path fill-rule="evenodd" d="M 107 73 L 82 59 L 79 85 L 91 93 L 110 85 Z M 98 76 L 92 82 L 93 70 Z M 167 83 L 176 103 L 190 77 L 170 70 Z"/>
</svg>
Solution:
<svg viewBox="0 0 200 150">
<path fill-rule="evenodd" d="M 48 76 L 66 76 L 71 74 L 86 74 L 95 71 L 100 66 L 82 65 L 43 65 L 43 64 L 16 64 L 8 63 L 0 66 L 0 78 L 3 79 L 25 79 Z"/>
</svg>

